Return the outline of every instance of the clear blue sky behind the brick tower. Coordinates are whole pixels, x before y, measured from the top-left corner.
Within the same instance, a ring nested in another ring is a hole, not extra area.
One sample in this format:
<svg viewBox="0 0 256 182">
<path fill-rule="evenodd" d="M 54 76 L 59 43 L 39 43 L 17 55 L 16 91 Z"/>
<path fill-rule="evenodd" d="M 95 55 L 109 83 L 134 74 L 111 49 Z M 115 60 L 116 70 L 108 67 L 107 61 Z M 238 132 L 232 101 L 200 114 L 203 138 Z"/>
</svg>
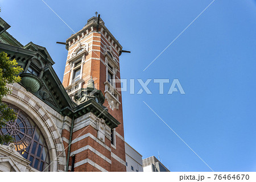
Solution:
<svg viewBox="0 0 256 182">
<path fill-rule="evenodd" d="M 210 169 L 143 103 L 146 102 L 214 171 L 256 171 L 256 1 L 216 0 L 143 72 L 212 0 L 49 1 L 79 31 L 98 11 L 123 49 L 121 78 L 150 82 L 152 94 L 122 93 L 126 142 L 143 158 L 160 154 L 171 171 Z M 0 0 L 1 17 L 22 44 L 47 48 L 62 81 L 73 33 L 41 0 Z M 128 85 L 129 86 L 129 85 Z M 135 82 L 135 92 L 141 88 Z"/>
</svg>

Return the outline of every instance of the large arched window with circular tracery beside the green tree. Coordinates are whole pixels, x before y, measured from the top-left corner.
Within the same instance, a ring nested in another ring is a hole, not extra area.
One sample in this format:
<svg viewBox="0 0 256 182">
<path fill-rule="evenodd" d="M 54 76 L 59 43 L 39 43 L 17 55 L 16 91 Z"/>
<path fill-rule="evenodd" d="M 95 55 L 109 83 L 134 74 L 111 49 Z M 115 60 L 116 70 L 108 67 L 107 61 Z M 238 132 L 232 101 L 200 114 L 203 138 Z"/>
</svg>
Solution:
<svg viewBox="0 0 256 182">
<path fill-rule="evenodd" d="M 0 129 L 0 134 L 13 136 L 15 150 L 30 160 L 31 167 L 39 171 L 49 171 L 49 151 L 39 127 L 18 107 L 8 105 L 17 113 L 17 118 L 15 121 L 8 121 Z"/>
</svg>

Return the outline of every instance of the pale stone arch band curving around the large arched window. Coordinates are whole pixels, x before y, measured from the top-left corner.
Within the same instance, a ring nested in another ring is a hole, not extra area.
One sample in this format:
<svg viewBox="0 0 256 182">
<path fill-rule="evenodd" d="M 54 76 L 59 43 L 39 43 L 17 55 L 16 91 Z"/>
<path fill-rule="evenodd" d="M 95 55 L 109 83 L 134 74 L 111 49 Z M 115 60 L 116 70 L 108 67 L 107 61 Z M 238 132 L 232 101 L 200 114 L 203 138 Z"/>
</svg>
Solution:
<svg viewBox="0 0 256 182">
<path fill-rule="evenodd" d="M 3 102 L 15 105 L 38 126 L 42 133 L 49 151 L 50 171 L 64 171 L 66 158 L 63 143 L 59 131 L 47 111 L 32 98 L 32 93 L 24 93 L 13 87 L 13 93 L 3 98 Z M 26 91 L 25 91 L 26 92 Z"/>
</svg>

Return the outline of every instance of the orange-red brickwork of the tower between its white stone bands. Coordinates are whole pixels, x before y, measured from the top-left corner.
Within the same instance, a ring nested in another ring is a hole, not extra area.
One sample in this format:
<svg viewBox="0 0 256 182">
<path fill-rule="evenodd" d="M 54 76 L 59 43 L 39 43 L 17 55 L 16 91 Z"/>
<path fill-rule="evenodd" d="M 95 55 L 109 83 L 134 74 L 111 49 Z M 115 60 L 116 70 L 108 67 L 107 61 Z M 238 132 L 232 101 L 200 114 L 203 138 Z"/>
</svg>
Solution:
<svg viewBox="0 0 256 182">
<path fill-rule="evenodd" d="M 103 32 L 104 34 L 105 32 Z M 101 38 L 96 38 L 93 36 L 100 36 Z M 87 36 L 85 39 L 89 39 L 88 42 L 92 41 L 89 43 L 89 47 L 92 45 L 98 45 L 103 47 L 104 44 L 108 44 L 110 46 L 108 39 L 105 39 L 103 35 L 93 32 L 93 34 Z M 95 41 L 101 41 L 101 42 L 95 42 Z M 105 41 L 105 42 L 104 42 Z M 72 55 L 72 49 L 77 46 L 77 43 L 69 47 L 69 52 L 68 52 L 68 57 L 67 60 L 71 58 Z M 84 64 L 82 72 L 84 73 L 82 78 L 84 78 L 85 84 L 84 88 L 87 85 L 88 76 L 92 76 L 93 78 L 97 78 L 94 81 L 94 84 L 97 89 L 101 90 L 102 93 L 105 91 L 105 85 L 104 82 L 106 81 L 106 66 L 98 60 L 101 58 L 102 61 L 105 62 L 105 55 L 103 55 L 101 52 L 98 51 L 91 51 L 91 49 L 94 50 L 102 50 L 101 47 L 98 46 L 92 46 L 89 48 L 89 54 L 86 55 L 85 61 L 88 59 L 91 59 L 90 61 L 86 62 Z M 75 50 L 75 49 L 73 49 Z M 119 55 L 119 53 L 113 48 L 113 51 Z M 117 60 L 119 60 L 119 56 L 115 56 Z M 63 77 L 63 86 L 67 87 L 69 85 L 69 81 L 71 79 L 71 73 L 69 72 L 69 65 L 65 67 L 65 72 L 67 73 Z M 119 72 L 117 72 L 117 76 L 120 78 Z M 118 85 L 117 85 L 118 86 Z M 121 92 L 119 92 L 121 94 Z M 105 93 L 104 93 L 105 94 Z M 108 102 L 105 102 L 105 106 L 109 108 L 109 113 L 113 115 L 114 118 L 116 118 L 121 124 L 115 129 L 115 131 L 121 135 L 122 137 L 124 136 L 123 134 L 123 113 L 122 113 L 122 96 L 119 97 L 119 101 L 121 102 L 121 105 L 119 105 L 119 109 L 110 109 Z M 84 128 L 85 129 L 85 128 Z M 85 131 L 84 129 L 80 129 L 78 131 L 75 131 L 72 135 L 72 140 L 81 137 L 82 135 L 86 133 L 92 134 L 94 137 L 97 138 L 97 131 L 94 129 L 92 126 L 89 126 Z M 80 136 L 79 136 L 80 135 Z M 69 132 L 67 130 L 63 130 L 63 137 L 69 139 Z M 111 148 L 112 152 L 117 155 L 119 158 L 121 158 L 123 161 L 125 161 L 125 142 L 120 139 L 119 137 L 115 137 L 115 143 L 116 143 L 116 149 L 111 146 L 111 142 L 108 138 L 105 138 L 105 144 L 109 148 Z M 98 152 L 100 152 L 102 155 L 106 156 L 106 158 L 112 160 L 112 164 L 106 162 L 106 160 L 102 159 L 100 156 L 94 154 L 94 152 L 90 150 L 85 150 L 80 152 L 79 154 L 76 154 L 76 159 L 75 163 L 84 160 L 84 159 L 90 159 L 94 163 L 98 164 L 99 166 L 105 168 L 107 171 L 126 171 L 126 166 L 123 165 L 122 163 L 119 163 L 117 160 L 112 158 L 111 152 L 107 150 L 105 147 L 103 147 L 101 144 L 97 143 L 95 140 L 93 140 L 90 137 L 84 138 L 80 140 L 79 142 L 73 143 L 71 145 L 71 152 L 78 150 L 81 147 L 84 146 L 91 146 Z M 64 142 L 64 147 L 67 146 L 67 143 Z M 67 154 L 67 151 L 66 151 Z M 71 165 L 71 159 L 69 160 L 69 165 Z M 93 167 L 89 163 L 82 164 L 81 166 L 78 166 L 75 168 L 75 171 L 99 171 L 97 168 Z"/>
</svg>

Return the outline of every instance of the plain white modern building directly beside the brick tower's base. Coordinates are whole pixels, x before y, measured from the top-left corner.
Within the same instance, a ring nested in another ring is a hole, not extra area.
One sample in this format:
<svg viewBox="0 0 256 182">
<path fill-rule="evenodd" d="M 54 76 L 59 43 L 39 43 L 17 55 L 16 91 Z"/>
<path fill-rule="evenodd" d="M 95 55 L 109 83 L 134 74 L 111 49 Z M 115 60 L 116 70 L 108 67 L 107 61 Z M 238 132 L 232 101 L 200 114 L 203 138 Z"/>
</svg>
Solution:
<svg viewBox="0 0 256 182">
<path fill-rule="evenodd" d="M 127 172 L 143 172 L 142 155 L 125 142 L 125 158 Z"/>
</svg>

